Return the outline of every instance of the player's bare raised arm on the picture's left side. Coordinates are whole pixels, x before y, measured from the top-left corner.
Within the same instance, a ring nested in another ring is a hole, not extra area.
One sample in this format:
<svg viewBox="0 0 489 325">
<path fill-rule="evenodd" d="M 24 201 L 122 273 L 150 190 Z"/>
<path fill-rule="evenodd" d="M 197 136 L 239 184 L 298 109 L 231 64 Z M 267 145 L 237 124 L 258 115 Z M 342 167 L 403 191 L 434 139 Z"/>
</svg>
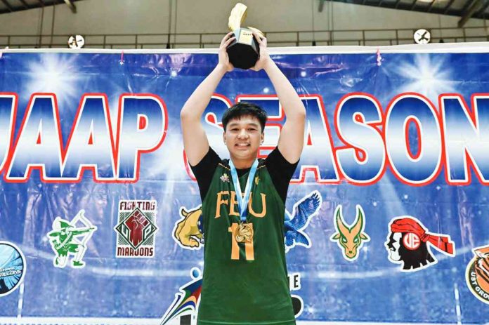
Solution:
<svg viewBox="0 0 489 325">
<path fill-rule="evenodd" d="M 191 166 L 197 165 L 209 151 L 209 141 L 200 120 L 205 108 L 211 101 L 211 96 L 216 90 L 219 81 L 221 81 L 226 72 L 232 71 L 234 68 L 230 64 L 228 53 L 226 52 L 226 47 L 234 39 L 234 37 L 231 37 L 232 34 L 233 32 L 230 32 L 222 39 L 219 46 L 219 63 L 190 95 L 180 112 L 183 147 Z"/>
</svg>

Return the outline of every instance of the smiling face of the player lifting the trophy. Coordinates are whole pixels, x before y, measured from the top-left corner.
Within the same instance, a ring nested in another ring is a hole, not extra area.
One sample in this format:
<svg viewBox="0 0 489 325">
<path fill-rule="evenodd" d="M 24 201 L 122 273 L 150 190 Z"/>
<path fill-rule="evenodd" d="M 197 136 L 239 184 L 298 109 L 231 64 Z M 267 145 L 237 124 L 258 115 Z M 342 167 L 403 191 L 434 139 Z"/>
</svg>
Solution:
<svg viewBox="0 0 489 325">
<path fill-rule="evenodd" d="M 226 147 L 234 159 L 256 158 L 263 136 L 259 119 L 250 115 L 231 119 L 223 134 Z"/>
</svg>

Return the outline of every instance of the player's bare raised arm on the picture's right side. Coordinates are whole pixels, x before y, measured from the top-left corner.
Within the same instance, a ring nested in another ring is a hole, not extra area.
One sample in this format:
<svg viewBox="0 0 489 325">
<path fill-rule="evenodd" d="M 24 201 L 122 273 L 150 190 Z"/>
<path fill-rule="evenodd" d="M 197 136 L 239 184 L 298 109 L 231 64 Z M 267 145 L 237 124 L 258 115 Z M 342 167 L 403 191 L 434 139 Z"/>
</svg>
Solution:
<svg viewBox="0 0 489 325">
<path fill-rule="evenodd" d="M 275 88 L 278 100 L 284 109 L 285 117 L 287 117 L 278 139 L 278 150 L 289 163 L 294 164 L 301 157 L 302 148 L 304 147 L 306 108 L 287 77 L 268 55 L 266 38 L 261 37 L 256 32 L 254 32 L 254 37 L 260 44 L 260 58 L 252 69 L 256 71 L 264 69 L 273 84 L 273 88 Z"/>
</svg>

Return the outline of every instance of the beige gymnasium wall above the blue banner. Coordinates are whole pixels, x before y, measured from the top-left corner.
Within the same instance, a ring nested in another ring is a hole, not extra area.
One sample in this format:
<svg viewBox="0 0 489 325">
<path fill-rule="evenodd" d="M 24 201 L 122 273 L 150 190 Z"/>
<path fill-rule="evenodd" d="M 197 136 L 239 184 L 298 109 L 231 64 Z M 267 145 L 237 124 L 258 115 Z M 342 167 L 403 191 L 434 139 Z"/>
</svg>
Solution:
<svg viewBox="0 0 489 325">
<path fill-rule="evenodd" d="M 441 36 L 445 41 L 455 41 L 449 35 L 462 36 L 462 31 L 457 30 L 459 17 L 448 15 L 436 15 L 431 13 L 419 13 L 415 11 L 400 11 L 388 8 L 375 8 L 372 6 L 360 6 L 326 1 L 322 12 L 318 11 L 318 1 L 310 0 L 246 0 L 242 1 L 248 6 L 248 15 L 245 25 L 257 27 L 264 32 L 295 32 L 295 31 L 336 31 L 330 37 L 327 32 L 315 32 L 314 36 L 308 33 L 301 34 L 300 45 L 311 45 L 315 38 L 318 45 L 327 45 L 327 40 L 334 41 L 334 45 L 358 45 L 356 41 L 344 41 L 341 39 L 361 39 L 361 32 L 339 32 L 344 30 L 360 29 L 391 29 L 391 32 L 370 31 L 367 37 L 370 39 L 395 38 L 393 29 L 434 29 L 433 38 L 440 37 L 438 28 L 450 28 Z M 15 13 L 0 15 L 1 35 L 39 35 L 42 44 L 49 44 L 51 32 L 53 34 L 164 34 L 164 33 L 218 33 L 214 36 L 204 36 L 207 43 L 219 42 L 221 35 L 227 31 L 228 16 L 234 2 L 227 0 L 84 0 L 77 1 L 77 13 L 72 13 L 68 6 L 58 5 L 46 7 L 44 14 L 40 8 Z M 440 6 L 445 6 L 441 1 Z M 435 5 L 435 8 L 438 4 Z M 53 24 L 53 11 L 54 24 Z M 314 17 L 312 17 L 314 15 Z M 42 19 L 41 19 L 42 18 Z M 313 22 L 314 21 L 314 22 Z M 467 36 L 480 36 L 481 39 L 471 41 L 483 41 L 487 37 L 484 21 L 471 19 L 465 27 L 481 27 L 471 29 Z M 412 36 L 411 31 L 401 32 L 400 38 Z M 133 37 L 111 37 L 110 41 L 127 43 Z M 270 33 L 269 41 L 273 46 L 294 46 L 296 35 Z M 26 41 L 27 39 L 22 39 Z M 33 39 L 35 43 L 37 39 Z M 177 47 L 195 48 L 196 36 L 178 36 L 171 38 L 171 42 L 181 45 Z M 1 44 L 5 41 L 0 39 Z M 65 37 L 53 39 L 56 44 L 65 43 Z M 100 39 L 86 39 L 86 46 L 90 43 L 100 43 Z M 147 42 L 166 44 L 164 37 L 147 38 Z M 187 42 L 187 44 L 185 44 Z M 405 42 L 404 42 L 405 43 Z M 1 45 L 0 44 L 0 45 Z M 375 44 L 389 45 L 386 41 L 377 41 Z M 154 46 L 161 48 L 161 45 Z M 206 47 L 215 47 L 209 44 Z"/>
</svg>

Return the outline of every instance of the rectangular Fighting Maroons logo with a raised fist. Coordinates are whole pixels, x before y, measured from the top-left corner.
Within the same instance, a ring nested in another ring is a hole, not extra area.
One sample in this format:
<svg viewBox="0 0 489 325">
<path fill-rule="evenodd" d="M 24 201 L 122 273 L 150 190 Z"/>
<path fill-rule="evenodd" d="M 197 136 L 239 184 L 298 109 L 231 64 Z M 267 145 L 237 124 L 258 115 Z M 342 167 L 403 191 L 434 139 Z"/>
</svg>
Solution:
<svg viewBox="0 0 489 325">
<path fill-rule="evenodd" d="M 117 258 L 152 258 L 155 256 L 156 226 L 155 200 L 119 201 Z"/>
</svg>

